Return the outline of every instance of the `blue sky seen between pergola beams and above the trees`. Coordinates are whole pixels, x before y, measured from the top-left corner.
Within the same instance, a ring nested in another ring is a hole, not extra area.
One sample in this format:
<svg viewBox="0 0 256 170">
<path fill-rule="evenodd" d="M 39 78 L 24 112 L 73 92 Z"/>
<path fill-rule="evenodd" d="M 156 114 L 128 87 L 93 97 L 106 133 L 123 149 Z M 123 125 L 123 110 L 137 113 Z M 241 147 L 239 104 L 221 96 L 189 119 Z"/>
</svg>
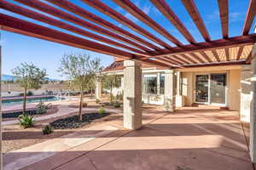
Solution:
<svg viewBox="0 0 256 170">
<path fill-rule="evenodd" d="M 7 0 L 7 1 L 9 3 L 19 4 L 21 7 L 28 8 L 25 5 L 16 3 L 13 0 Z M 41 1 L 44 3 L 47 3 L 44 0 L 41 0 Z M 90 11 L 91 13 L 102 17 L 102 19 L 104 20 L 108 20 L 109 22 L 113 23 L 115 26 L 119 26 L 126 31 L 130 31 L 131 33 L 137 35 L 138 37 L 143 37 L 137 34 L 137 32 L 131 31 L 130 28 L 119 24 L 119 22 L 111 19 L 107 15 L 97 11 L 95 8 L 90 8 L 88 5 L 86 5 L 85 3 L 82 3 L 80 0 L 72 0 L 70 2 L 75 3 L 80 7 Z M 113 1 L 102 0 L 102 2 L 107 4 L 109 7 L 114 8 L 120 14 L 124 14 L 125 17 L 135 22 L 138 26 L 142 26 L 144 29 L 150 31 L 155 36 L 160 37 L 160 39 L 162 39 L 163 41 L 168 42 L 172 46 L 175 46 L 172 42 L 169 42 L 165 37 L 161 36 L 158 32 L 154 31 L 153 29 L 146 26 L 141 21 L 137 20 L 136 17 L 134 17 L 132 14 L 129 14 L 127 11 L 125 11 L 125 9 L 120 8 L 117 4 L 113 3 Z M 155 8 L 154 5 L 150 3 L 149 0 L 131 0 L 131 2 L 136 4 L 137 7 L 141 8 L 145 14 L 148 14 L 153 20 L 157 21 L 157 23 L 160 24 L 160 26 L 165 28 L 166 31 L 169 31 L 179 41 L 183 42 L 184 44 L 188 44 L 185 38 L 177 31 L 177 29 L 174 26 L 172 26 L 172 23 L 170 23 L 169 20 L 166 20 L 166 18 L 162 14 L 160 14 L 158 9 Z M 183 4 L 181 3 L 181 0 L 166 0 L 166 2 L 170 5 L 172 10 L 175 12 L 175 14 L 177 14 L 178 18 L 183 21 L 184 26 L 193 35 L 196 42 L 203 42 L 204 40 L 201 37 L 200 32 L 197 30 L 194 22 L 191 20 L 188 12 L 185 10 Z M 230 0 L 229 1 L 230 3 L 229 4 L 230 37 L 241 36 L 242 26 L 247 13 L 248 2 L 249 0 Z M 220 25 L 220 19 L 218 14 L 218 1 L 217 0 L 195 0 L 195 5 L 199 9 L 202 20 L 204 21 L 212 40 L 222 38 L 221 25 Z M 58 7 L 55 7 L 55 8 L 58 8 Z M 32 8 L 29 8 L 29 9 L 32 9 Z M 37 11 L 35 9 L 32 9 L 32 10 Z M 65 9 L 61 9 L 61 10 L 66 11 Z M 40 11 L 37 11 L 37 12 L 44 14 L 43 12 L 40 12 Z M 13 14 L 1 8 L 0 8 L 0 13 L 9 14 L 11 16 L 19 18 L 20 20 L 28 20 L 30 22 L 39 24 L 41 26 L 46 26 L 51 29 L 55 29 L 57 31 L 66 32 L 76 37 L 82 37 L 81 35 L 75 34 L 73 32 L 69 32 L 69 31 L 57 28 L 55 26 L 49 26 L 48 24 L 41 23 L 37 20 L 28 19 L 19 14 Z M 47 15 L 50 17 L 53 17 L 49 14 Z M 61 20 L 56 17 L 54 18 L 55 20 Z M 69 23 L 65 20 L 61 20 L 61 21 L 64 21 L 68 24 L 73 25 L 72 23 Z M 253 26 L 255 26 L 255 20 L 253 22 Z M 253 26 L 250 31 L 251 33 L 253 32 Z M 78 27 L 83 28 L 81 26 L 78 26 Z M 85 28 L 83 29 L 86 31 L 90 31 Z M 94 31 L 90 31 L 90 32 L 96 33 Z M 105 37 L 105 36 L 102 36 L 102 37 Z M 87 37 L 83 37 L 83 38 L 92 40 Z M 143 37 L 143 38 L 146 39 L 148 42 L 151 42 L 146 37 Z M 95 40 L 92 40 L 92 41 L 95 41 Z M 73 48 L 67 45 L 40 40 L 33 37 L 26 37 L 26 36 L 15 34 L 8 31 L 1 31 L 0 43 L 3 47 L 2 48 L 3 74 L 11 74 L 11 70 L 15 68 L 17 65 L 20 65 L 20 63 L 22 62 L 28 62 L 28 63 L 33 63 L 35 65 L 38 65 L 38 67 L 40 68 L 45 68 L 50 78 L 61 79 L 60 74 L 56 71 L 57 68 L 59 68 L 60 66 L 60 59 L 63 56 L 63 54 L 71 54 L 71 53 L 88 53 L 93 58 L 96 58 L 96 57 L 101 58 L 102 65 L 104 66 L 108 66 L 113 62 L 113 57 L 110 55 L 98 54 L 98 53 L 90 52 L 88 50 L 84 50 L 81 48 Z M 102 44 L 108 45 L 106 43 L 102 43 Z"/>
</svg>

